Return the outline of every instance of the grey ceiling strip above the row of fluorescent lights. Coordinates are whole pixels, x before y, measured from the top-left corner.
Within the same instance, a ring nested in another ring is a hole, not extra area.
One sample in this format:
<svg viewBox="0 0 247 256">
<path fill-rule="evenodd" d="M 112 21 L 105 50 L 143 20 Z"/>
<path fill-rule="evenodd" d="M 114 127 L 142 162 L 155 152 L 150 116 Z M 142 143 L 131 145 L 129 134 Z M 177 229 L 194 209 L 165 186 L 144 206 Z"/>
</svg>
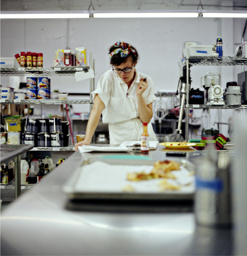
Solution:
<svg viewBox="0 0 247 256">
<path fill-rule="evenodd" d="M 247 0 L 1 0 L 1 11 L 246 10 Z"/>
</svg>

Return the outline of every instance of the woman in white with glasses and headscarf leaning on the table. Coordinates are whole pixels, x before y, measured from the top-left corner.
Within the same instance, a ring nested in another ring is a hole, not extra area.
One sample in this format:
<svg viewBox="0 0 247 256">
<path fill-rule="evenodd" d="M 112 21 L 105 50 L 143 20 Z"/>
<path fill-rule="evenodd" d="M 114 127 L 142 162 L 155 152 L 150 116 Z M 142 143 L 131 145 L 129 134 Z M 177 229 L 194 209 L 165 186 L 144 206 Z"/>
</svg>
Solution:
<svg viewBox="0 0 247 256">
<path fill-rule="evenodd" d="M 94 106 L 86 127 L 85 139 L 78 146 L 90 145 L 101 113 L 109 124 L 110 144 L 140 140 L 143 123 L 148 123 L 150 140 L 157 140 L 150 120 L 152 103 L 156 100 L 151 77 L 136 71 L 138 53 L 128 43 L 117 42 L 109 50 L 112 70 L 99 79 L 92 92 Z"/>
</svg>

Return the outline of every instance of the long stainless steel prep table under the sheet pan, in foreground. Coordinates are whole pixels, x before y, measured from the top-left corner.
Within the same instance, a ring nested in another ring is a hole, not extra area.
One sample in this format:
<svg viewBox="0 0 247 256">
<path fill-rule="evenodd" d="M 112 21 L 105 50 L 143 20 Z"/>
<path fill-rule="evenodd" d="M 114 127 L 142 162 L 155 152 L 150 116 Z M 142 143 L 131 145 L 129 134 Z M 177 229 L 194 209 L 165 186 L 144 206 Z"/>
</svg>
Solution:
<svg viewBox="0 0 247 256">
<path fill-rule="evenodd" d="M 149 156 L 164 159 L 161 148 Z M 109 153 L 83 154 L 86 158 L 102 155 Z M 66 210 L 63 186 L 81 159 L 75 152 L 6 207 L 1 213 L 1 255 L 233 254 L 232 231 L 199 227 L 193 212 Z"/>
</svg>

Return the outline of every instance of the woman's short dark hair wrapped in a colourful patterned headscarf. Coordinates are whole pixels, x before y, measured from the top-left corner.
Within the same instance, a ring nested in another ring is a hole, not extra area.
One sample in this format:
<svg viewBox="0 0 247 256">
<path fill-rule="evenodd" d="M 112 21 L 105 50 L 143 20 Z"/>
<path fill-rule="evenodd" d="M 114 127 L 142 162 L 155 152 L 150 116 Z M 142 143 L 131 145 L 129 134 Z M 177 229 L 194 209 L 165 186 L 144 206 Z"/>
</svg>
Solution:
<svg viewBox="0 0 247 256">
<path fill-rule="evenodd" d="M 128 61 L 129 58 L 131 58 L 132 62 L 136 64 L 139 58 L 135 47 L 129 43 L 120 41 L 116 42 L 110 47 L 109 54 L 111 59 L 110 63 L 112 66 L 119 66 L 121 63 Z"/>
</svg>

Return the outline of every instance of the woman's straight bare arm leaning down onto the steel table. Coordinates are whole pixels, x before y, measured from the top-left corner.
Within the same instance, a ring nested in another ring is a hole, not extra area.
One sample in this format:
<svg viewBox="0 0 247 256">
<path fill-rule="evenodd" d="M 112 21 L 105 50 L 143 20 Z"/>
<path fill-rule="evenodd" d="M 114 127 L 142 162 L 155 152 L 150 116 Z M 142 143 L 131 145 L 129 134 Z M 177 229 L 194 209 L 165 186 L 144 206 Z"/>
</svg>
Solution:
<svg viewBox="0 0 247 256">
<path fill-rule="evenodd" d="M 76 143 L 75 145 L 76 151 L 78 150 L 78 146 L 90 145 L 90 142 L 92 140 L 96 127 L 99 123 L 100 115 L 103 109 L 104 109 L 104 103 L 101 101 L 99 95 L 96 94 L 94 98 L 94 106 L 91 111 L 89 121 L 87 122 L 87 125 L 86 125 L 85 139 L 81 142 Z"/>
</svg>

